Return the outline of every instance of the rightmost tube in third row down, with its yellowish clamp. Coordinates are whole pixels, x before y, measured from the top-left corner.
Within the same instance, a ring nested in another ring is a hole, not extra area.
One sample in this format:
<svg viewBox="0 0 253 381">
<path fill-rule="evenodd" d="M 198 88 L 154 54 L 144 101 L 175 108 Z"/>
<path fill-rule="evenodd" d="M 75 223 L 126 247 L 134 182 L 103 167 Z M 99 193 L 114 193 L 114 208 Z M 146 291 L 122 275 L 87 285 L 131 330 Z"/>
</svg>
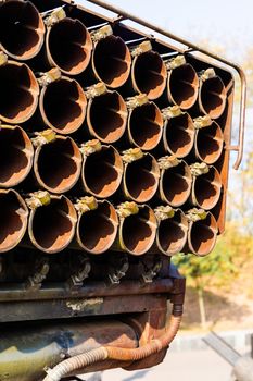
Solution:
<svg viewBox="0 0 253 381">
<path fill-rule="evenodd" d="M 213 209 L 222 194 L 222 179 L 218 171 L 213 165 L 197 163 L 191 165 L 191 173 L 193 176 L 191 205 L 204 210 Z"/>
</svg>

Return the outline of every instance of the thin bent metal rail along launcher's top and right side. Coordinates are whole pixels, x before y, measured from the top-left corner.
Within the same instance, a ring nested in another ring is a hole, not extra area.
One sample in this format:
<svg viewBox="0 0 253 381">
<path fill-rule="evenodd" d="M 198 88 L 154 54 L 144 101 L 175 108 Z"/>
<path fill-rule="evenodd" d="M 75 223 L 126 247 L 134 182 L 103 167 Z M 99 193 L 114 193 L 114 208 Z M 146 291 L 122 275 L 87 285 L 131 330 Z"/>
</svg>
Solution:
<svg viewBox="0 0 253 381">
<path fill-rule="evenodd" d="M 186 45 L 188 48 L 190 48 L 191 50 L 197 50 L 200 51 L 203 54 L 206 54 L 208 57 L 211 57 L 212 59 L 215 59 L 219 62 L 225 63 L 226 65 L 235 69 L 237 71 L 237 73 L 239 74 L 240 77 L 240 82 L 241 82 L 241 99 L 240 99 L 240 122 L 239 122 L 239 131 L 238 131 L 238 153 L 237 153 L 237 159 L 236 162 L 233 163 L 233 168 L 237 170 L 239 169 L 241 161 L 242 161 L 242 156 L 243 156 L 243 143 L 244 143 L 244 128 L 245 128 L 245 101 L 246 101 L 246 79 L 245 79 L 245 74 L 243 72 L 243 70 L 236 63 L 230 62 L 228 60 L 226 60 L 225 58 L 222 58 L 215 53 L 210 52 L 208 50 L 201 48 L 200 46 L 192 44 L 188 40 L 186 40 L 182 37 L 178 37 L 176 35 L 174 35 L 173 33 L 161 28 L 157 25 L 153 25 L 151 23 L 149 23 L 148 21 L 144 21 L 131 13 L 128 13 L 117 7 L 114 7 L 107 2 L 104 2 L 102 0 L 87 0 L 93 4 L 97 4 L 99 7 L 105 8 L 106 10 L 114 12 L 116 14 L 119 14 L 122 16 L 124 16 L 125 19 L 131 20 L 142 26 L 146 26 L 150 29 L 155 30 L 156 33 L 160 33 L 161 35 L 164 35 L 165 37 L 172 38 L 176 41 L 178 41 L 179 44 Z"/>
</svg>

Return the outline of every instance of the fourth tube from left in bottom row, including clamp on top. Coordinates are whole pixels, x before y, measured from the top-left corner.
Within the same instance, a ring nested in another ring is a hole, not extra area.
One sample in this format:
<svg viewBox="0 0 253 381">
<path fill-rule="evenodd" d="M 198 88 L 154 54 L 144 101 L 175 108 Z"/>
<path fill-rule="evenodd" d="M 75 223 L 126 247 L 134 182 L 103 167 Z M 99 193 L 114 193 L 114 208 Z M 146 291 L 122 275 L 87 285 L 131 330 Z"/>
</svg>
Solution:
<svg viewBox="0 0 253 381">
<path fill-rule="evenodd" d="M 118 206 L 119 226 L 113 248 L 135 256 L 147 253 L 154 243 L 157 221 L 148 205 L 124 202 Z"/>
</svg>

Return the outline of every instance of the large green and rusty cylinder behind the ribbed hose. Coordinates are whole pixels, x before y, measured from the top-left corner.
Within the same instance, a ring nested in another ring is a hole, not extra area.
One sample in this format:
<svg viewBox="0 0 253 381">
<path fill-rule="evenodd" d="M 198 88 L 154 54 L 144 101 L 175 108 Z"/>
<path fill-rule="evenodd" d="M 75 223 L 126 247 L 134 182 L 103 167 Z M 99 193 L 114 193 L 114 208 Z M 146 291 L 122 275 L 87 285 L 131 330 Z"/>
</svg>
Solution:
<svg viewBox="0 0 253 381">
<path fill-rule="evenodd" d="M 73 300 L 73 306 L 78 302 Z M 71 308 L 71 307 L 69 307 Z M 76 319 L 74 319 L 76 320 Z M 111 319 L 76 321 L 43 321 L 37 324 L 8 327 L 1 332 L 0 340 L 0 378 L 9 374 L 10 381 L 40 380 L 45 377 L 43 368 L 53 367 L 62 361 L 63 356 L 76 356 L 101 345 L 137 346 L 137 333 L 129 324 Z M 18 324 L 20 325 L 20 324 Z M 42 354 L 41 354 L 42 351 Z M 27 355 L 29 354 L 29 355 Z M 15 358 L 15 367 L 10 359 Z M 104 364 L 103 364 L 104 365 Z M 124 366 L 112 361 L 107 367 Z M 99 365 L 97 365 L 99 368 Z"/>
</svg>

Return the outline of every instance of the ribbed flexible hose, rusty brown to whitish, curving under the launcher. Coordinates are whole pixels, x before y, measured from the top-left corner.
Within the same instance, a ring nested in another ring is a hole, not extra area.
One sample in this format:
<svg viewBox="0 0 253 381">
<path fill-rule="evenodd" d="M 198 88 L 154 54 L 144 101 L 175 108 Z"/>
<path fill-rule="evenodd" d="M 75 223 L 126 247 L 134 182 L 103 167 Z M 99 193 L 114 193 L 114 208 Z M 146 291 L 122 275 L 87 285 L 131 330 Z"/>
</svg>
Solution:
<svg viewBox="0 0 253 381">
<path fill-rule="evenodd" d="M 119 348 L 115 346 L 101 346 L 97 349 L 83 353 L 75 357 L 65 359 L 56 365 L 53 369 L 48 369 L 48 376 L 43 381 L 60 381 L 63 377 L 69 373 L 76 373 L 77 370 L 84 369 L 92 364 L 106 359 L 119 361 L 138 361 L 151 355 L 160 353 L 175 339 L 181 322 L 181 306 L 174 305 L 166 332 L 159 339 L 153 339 L 149 343 L 138 348 Z M 178 312 L 178 310 L 180 310 Z"/>
</svg>

